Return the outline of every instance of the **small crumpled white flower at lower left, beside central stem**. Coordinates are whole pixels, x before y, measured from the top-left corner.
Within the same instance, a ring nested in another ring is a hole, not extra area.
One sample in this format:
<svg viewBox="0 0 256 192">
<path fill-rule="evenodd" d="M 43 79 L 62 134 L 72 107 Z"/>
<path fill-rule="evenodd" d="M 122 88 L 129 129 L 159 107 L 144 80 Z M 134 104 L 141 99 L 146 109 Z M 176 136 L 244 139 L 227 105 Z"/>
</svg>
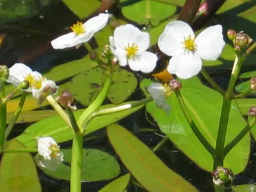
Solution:
<svg viewBox="0 0 256 192">
<path fill-rule="evenodd" d="M 36 163 L 38 166 L 55 171 L 63 161 L 64 155 L 60 152 L 60 146 L 51 137 L 44 137 L 38 138 L 37 148 Z"/>
</svg>

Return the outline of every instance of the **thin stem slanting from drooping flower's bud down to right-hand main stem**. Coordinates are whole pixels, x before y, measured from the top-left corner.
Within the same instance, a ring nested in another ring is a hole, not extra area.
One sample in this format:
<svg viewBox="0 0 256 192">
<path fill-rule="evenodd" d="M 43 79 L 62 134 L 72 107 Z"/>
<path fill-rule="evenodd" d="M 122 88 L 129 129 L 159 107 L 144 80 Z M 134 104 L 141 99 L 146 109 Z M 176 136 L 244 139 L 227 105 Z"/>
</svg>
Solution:
<svg viewBox="0 0 256 192">
<path fill-rule="evenodd" d="M 193 132 L 195 133 L 196 137 L 198 138 L 198 140 L 202 143 L 202 145 L 204 145 L 204 147 L 206 148 L 206 150 L 212 155 L 214 156 L 214 148 L 211 146 L 211 144 L 204 138 L 203 134 L 199 131 L 198 127 L 196 127 L 195 122 L 193 121 L 193 119 L 191 118 L 191 116 L 189 115 L 188 109 L 186 108 L 186 104 L 184 103 L 184 100 L 182 99 L 182 95 L 180 94 L 180 91 L 176 91 L 176 96 L 177 99 L 179 101 L 180 104 L 180 108 L 183 111 L 184 116 L 186 117 L 188 124 L 190 125 L 191 129 L 193 130 Z"/>
</svg>

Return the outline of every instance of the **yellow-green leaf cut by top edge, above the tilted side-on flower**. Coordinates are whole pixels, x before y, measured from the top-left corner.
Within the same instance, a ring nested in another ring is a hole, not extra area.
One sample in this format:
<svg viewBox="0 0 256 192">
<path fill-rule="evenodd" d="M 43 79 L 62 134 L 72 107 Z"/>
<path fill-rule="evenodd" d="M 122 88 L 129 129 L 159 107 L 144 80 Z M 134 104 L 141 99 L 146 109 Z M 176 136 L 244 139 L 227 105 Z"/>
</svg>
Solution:
<svg viewBox="0 0 256 192">
<path fill-rule="evenodd" d="M 99 0 L 62 0 L 79 19 L 90 16 L 100 6 Z"/>
</svg>

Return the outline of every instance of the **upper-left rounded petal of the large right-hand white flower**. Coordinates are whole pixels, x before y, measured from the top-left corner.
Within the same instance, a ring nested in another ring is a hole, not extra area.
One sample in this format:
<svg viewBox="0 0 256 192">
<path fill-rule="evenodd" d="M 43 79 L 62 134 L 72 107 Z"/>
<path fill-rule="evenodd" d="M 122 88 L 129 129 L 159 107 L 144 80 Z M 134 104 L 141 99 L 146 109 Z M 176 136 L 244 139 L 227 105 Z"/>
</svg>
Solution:
<svg viewBox="0 0 256 192">
<path fill-rule="evenodd" d="M 175 56 L 181 54 L 184 49 L 184 37 L 191 36 L 194 38 L 194 32 L 186 22 L 180 20 L 174 20 L 169 22 L 163 33 L 158 38 L 159 49 L 168 56 Z"/>
</svg>

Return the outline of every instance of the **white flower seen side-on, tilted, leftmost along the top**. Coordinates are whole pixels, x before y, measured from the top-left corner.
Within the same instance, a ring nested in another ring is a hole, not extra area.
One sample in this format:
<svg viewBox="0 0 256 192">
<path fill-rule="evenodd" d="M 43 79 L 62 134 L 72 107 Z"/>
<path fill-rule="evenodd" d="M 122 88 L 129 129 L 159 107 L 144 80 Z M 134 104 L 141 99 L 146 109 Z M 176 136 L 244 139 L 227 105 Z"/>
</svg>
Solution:
<svg viewBox="0 0 256 192">
<path fill-rule="evenodd" d="M 94 33 L 106 26 L 108 18 L 108 13 L 100 13 L 98 16 L 87 20 L 84 24 L 77 21 L 77 24 L 71 27 L 71 33 L 67 33 L 66 35 L 59 36 L 52 40 L 52 47 L 54 49 L 65 49 L 88 42 Z"/>
</svg>

